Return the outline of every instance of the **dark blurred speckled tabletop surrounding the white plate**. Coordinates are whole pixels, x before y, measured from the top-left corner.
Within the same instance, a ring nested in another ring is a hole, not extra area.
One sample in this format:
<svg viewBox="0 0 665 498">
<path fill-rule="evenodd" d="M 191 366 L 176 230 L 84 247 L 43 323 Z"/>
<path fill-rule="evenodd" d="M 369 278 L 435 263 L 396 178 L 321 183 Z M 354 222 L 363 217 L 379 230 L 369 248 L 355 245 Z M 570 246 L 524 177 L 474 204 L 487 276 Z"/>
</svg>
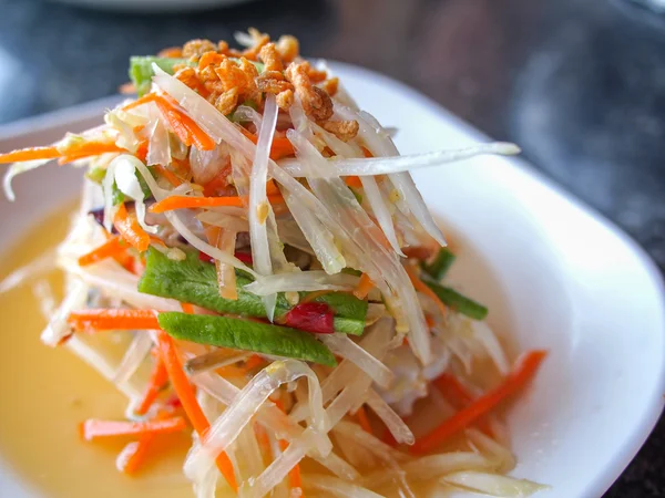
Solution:
<svg viewBox="0 0 665 498">
<path fill-rule="evenodd" d="M 185 0 L 183 0 L 185 1 Z M 0 0 L 0 123 L 115 93 L 127 58 L 249 25 L 433 97 L 665 268 L 665 15 L 624 0 L 282 0 L 120 14 Z M 665 496 L 665 422 L 606 497 Z"/>
</svg>

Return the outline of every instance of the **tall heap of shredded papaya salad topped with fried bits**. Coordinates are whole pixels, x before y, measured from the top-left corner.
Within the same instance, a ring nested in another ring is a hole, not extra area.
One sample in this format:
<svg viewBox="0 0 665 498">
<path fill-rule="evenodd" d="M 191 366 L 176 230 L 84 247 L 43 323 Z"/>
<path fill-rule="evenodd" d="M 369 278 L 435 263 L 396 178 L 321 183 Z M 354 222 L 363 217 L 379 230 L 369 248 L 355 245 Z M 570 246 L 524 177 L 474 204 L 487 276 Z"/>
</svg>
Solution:
<svg viewBox="0 0 665 498">
<path fill-rule="evenodd" d="M 191 432 L 200 498 L 542 489 L 508 476 L 498 408 L 546 353 L 511 362 L 449 284 L 456 256 L 410 175 L 519 148 L 400 156 L 295 38 L 236 40 L 134 56 L 136 96 L 102 125 L 0 155 L 10 199 L 19 174 L 86 168 L 66 239 L 0 283 L 64 273 L 43 342 L 127 397 L 124 416 L 81 422 L 82 444 L 126 442 L 115 465 L 133 475 Z"/>
</svg>

